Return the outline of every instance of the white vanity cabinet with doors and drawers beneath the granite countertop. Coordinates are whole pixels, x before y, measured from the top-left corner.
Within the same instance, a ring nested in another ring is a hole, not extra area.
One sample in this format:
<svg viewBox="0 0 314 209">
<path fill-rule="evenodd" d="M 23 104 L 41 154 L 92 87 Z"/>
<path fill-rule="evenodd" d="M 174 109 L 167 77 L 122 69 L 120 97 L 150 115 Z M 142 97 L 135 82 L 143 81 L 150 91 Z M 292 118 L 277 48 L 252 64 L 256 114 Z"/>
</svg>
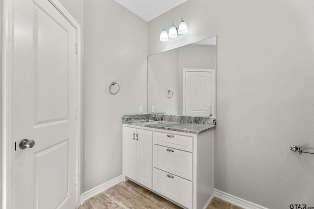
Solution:
<svg viewBox="0 0 314 209">
<path fill-rule="evenodd" d="M 129 125 L 123 125 L 124 176 L 146 186 L 136 176 L 141 171 L 135 172 L 134 169 L 134 164 L 138 166 L 139 162 L 134 163 L 134 153 L 138 155 L 138 149 L 132 143 L 134 141 L 132 136 L 135 133 L 136 140 L 136 133 L 147 129 L 147 135 L 152 133 L 150 150 L 153 150 L 153 154 L 147 153 L 147 156 L 144 156 L 144 152 L 140 154 L 146 160 L 145 169 L 149 166 L 147 162 L 151 162 L 152 186 L 146 187 L 184 208 L 206 208 L 213 195 L 213 129 L 197 135 L 127 126 Z M 145 145 L 148 148 L 149 144 Z"/>
</svg>

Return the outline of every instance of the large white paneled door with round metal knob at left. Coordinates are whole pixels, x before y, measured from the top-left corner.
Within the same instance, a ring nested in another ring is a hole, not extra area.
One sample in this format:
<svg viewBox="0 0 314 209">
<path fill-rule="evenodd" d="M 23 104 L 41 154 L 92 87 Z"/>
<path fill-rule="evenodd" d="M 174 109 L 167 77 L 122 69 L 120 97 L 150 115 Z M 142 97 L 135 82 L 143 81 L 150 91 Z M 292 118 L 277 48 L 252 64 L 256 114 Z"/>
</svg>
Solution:
<svg viewBox="0 0 314 209">
<path fill-rule="evenodd" d="M 13 14 L 10 208 L 75 209 L 77 31 L 49 0 L 14 0 Z"/>
</svg>

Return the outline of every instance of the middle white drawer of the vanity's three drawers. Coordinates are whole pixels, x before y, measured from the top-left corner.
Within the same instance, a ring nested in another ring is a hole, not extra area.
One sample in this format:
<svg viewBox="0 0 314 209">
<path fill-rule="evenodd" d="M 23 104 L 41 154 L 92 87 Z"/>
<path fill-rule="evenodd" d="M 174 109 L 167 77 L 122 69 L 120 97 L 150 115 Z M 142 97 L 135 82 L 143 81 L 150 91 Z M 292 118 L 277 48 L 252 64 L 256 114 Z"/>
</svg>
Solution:
<svg viewBox="0 0 314 209">
<path fill-rule="evenodd" d="M 193 158 L 191 152 L 154 144 L 153 153 L 154 167 L 178 175 L 182 178 L 193 180 Z"/>
</svg>

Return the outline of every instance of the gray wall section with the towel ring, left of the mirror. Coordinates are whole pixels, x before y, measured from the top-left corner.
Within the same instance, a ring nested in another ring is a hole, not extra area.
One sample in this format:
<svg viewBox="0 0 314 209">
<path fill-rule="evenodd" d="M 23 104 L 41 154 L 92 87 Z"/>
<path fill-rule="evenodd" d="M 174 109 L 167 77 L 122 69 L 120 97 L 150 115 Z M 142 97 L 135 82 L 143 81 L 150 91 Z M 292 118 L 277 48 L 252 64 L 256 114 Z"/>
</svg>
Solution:
<svg viewBox="0 0 314 209">
<path fill-rule="evenodd" d="M 147 22 L 113 0 L 84 2 L 84 190 L 122 174 L 125 113 L 146 113 Z M 120 92 L 108 87 L 118 82 Z"/>
</svg>

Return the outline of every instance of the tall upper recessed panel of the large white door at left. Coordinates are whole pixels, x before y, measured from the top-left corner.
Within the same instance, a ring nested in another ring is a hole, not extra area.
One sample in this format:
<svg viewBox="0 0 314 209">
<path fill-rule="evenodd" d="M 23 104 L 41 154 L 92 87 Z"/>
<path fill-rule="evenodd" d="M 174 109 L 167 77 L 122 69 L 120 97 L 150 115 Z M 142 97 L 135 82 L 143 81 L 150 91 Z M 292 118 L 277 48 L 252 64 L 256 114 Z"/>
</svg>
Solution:
<svg viewBox="0 0 314 209">
<path fill-rule="evenodd" d="M 36 125 L 68 119 L 68 45 L 66 28 L 35 5 L 34 98 Z M 55 103 L 54 101 L 59 102 Z"/>
</svg>

